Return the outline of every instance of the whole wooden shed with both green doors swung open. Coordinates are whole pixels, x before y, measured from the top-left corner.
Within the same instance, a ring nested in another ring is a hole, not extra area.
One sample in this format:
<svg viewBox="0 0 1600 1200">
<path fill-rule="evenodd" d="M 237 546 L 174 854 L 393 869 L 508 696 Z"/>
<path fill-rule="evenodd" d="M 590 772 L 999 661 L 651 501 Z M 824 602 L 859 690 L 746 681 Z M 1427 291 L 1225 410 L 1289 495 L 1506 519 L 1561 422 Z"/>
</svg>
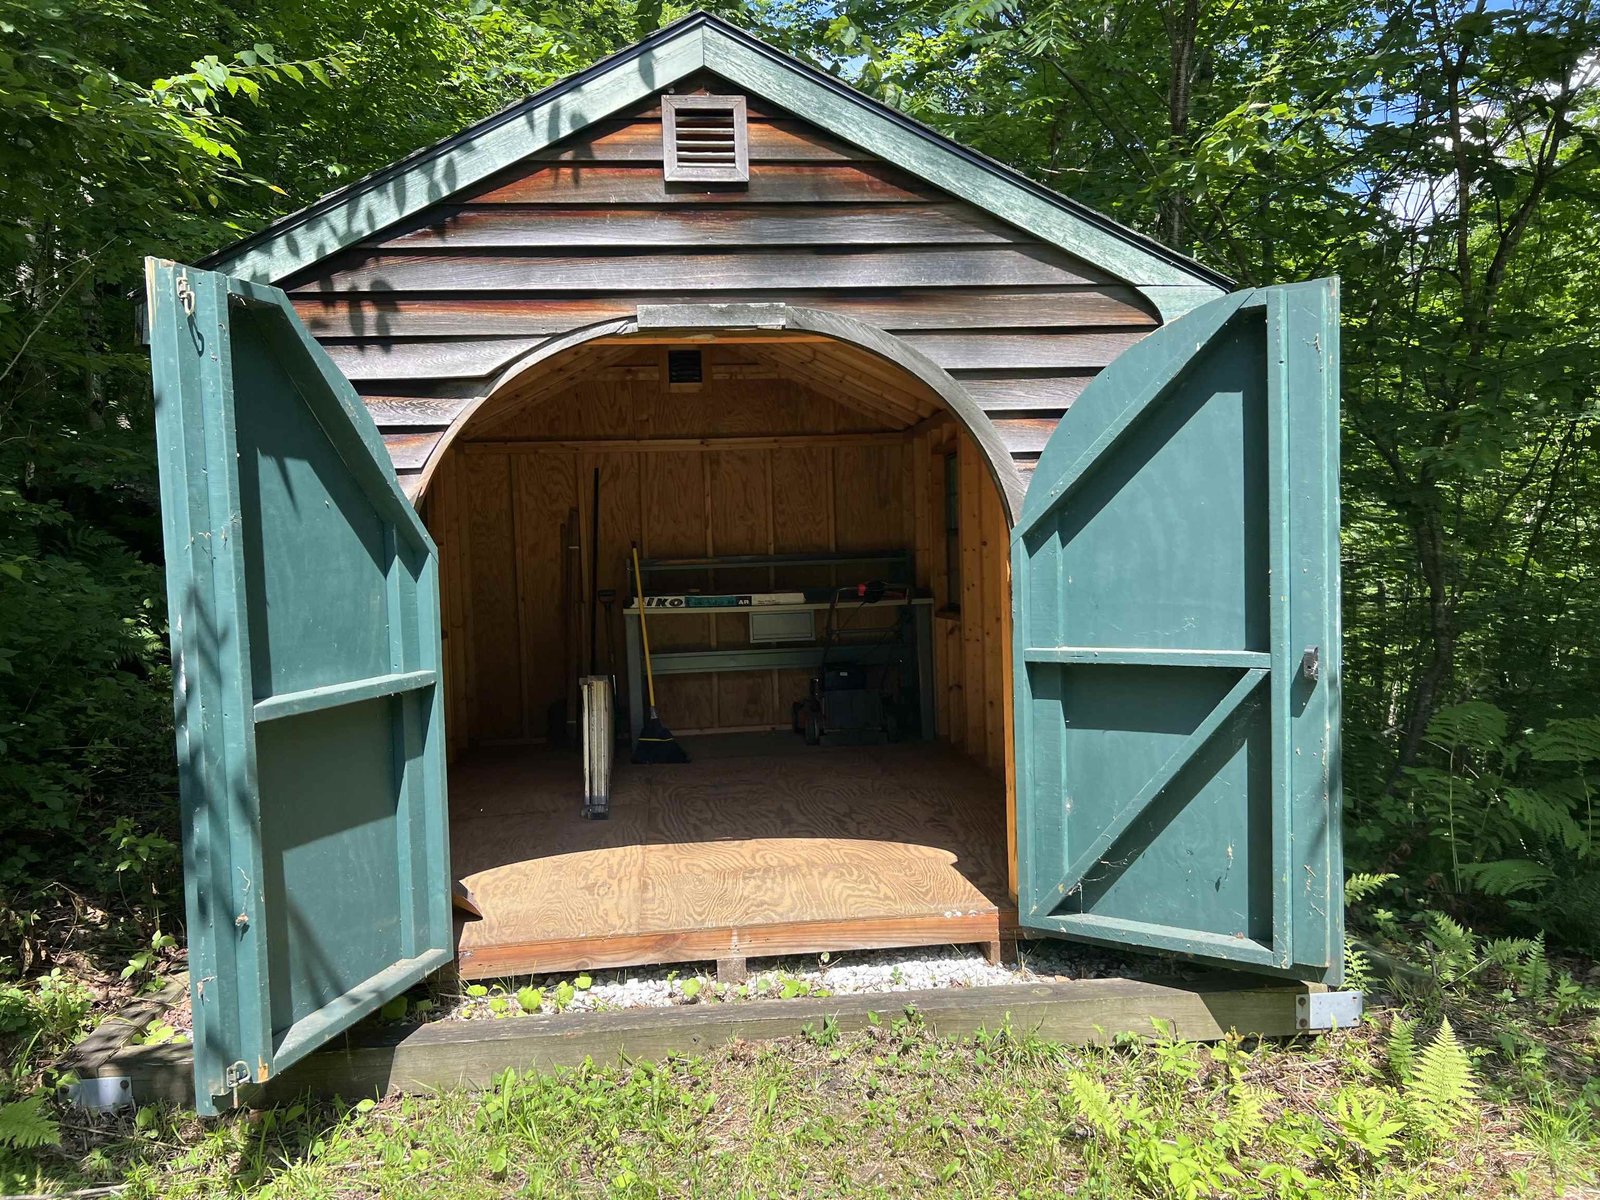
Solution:
<svg viewBox="0 0 1600 1200">
<path fill-rule="evenodd" d="M 1338 976 L 1333 282 L 1229 293 L 706 14 L 147 277 L 202 1106 L 451 962 Z M 691 762 L 584 821 L 635 542 Z M 898 739 L 794 733 L 829 624 Z"/>
</svg>

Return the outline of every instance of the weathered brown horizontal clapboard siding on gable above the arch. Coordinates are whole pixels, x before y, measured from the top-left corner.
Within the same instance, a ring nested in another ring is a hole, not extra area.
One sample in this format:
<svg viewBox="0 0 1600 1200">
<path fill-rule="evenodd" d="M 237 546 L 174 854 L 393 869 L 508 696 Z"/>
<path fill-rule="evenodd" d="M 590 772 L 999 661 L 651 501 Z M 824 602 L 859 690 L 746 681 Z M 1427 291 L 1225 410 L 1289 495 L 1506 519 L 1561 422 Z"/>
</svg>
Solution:
<svg viewBox="0 0 1600 1200">
<path fill-rule="evenodd" d="M 970 389 L 1024 474 L 1083 384 L 1158 323 L 1107 274 L 758 101 L 747 187 L 666 184 L 651 104 L 286 286 L 411 491 L 506 365 L 642 302 L 782 301 L 890 330 Z"/>
</svg>

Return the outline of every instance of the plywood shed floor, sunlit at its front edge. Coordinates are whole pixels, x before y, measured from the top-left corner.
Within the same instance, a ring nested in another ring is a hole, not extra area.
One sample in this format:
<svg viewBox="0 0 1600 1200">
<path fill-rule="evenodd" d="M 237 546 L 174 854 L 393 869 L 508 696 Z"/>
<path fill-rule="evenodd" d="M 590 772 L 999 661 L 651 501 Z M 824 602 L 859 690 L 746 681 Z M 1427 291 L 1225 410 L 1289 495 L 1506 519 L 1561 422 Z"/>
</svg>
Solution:
<svg viewBox="0 0 1600 1200">
<path fill-rule="evenodd" d="M 462 976 L 1010 936 L 1003 792 L 970 760 L 683 742 L 686 765 L 618 765 L 610 821 L 578 816 L 576 754 L 451 768 L 454 870 L 483 909 L 461 925 Z"/>
</svg>

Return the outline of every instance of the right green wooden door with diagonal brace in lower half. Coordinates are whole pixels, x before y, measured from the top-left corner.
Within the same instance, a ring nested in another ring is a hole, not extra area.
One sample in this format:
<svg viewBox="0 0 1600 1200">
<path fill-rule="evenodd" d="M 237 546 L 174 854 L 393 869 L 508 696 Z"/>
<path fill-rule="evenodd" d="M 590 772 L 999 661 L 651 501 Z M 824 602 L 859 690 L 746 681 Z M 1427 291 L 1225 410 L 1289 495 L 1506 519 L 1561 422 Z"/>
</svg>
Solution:
<svg viewBox="0 0 1600 1200">
<path fill-rule="evenodd" d="M 1157 330 L 1011 541 L 1024 926 L 1336 982 L 1338 285 Z"/>
</svg>

